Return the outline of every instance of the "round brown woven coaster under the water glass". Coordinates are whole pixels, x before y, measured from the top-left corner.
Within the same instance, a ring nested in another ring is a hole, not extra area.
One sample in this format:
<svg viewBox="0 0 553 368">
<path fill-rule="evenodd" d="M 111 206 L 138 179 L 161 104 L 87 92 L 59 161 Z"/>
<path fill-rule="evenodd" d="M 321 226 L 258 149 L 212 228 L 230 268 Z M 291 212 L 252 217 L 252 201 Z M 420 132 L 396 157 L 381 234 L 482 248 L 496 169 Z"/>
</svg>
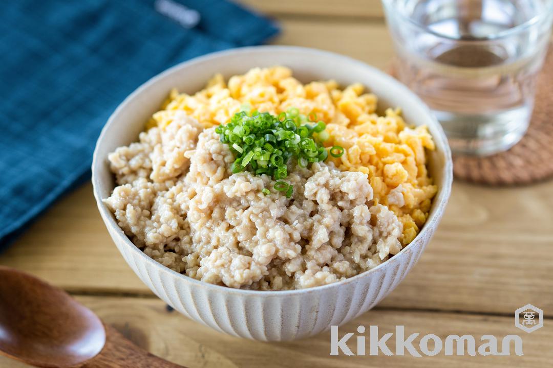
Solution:
<svg viewBox="0 0 553 368">
<path fill-rule="evenodd" d="M 457 179 L 488 185 L 523 185 L 553 177 L 553 45 L 536 84 L 530 126 L 510 150 L 487 157 L 453 156 Z M 393 73 L 393 67 L 390 68 Z"/>
</svg>

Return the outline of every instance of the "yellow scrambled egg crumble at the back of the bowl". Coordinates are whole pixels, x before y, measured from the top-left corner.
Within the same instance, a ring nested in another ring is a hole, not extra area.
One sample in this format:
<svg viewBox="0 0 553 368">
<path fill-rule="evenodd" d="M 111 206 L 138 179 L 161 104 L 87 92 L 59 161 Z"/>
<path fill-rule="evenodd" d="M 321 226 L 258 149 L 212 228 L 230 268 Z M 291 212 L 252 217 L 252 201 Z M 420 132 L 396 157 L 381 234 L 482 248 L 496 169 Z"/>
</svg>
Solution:
<svg viewBox="0 0 553 368">
<path fill-rule="evenodd" d="M 388 109 L 379 116 L 377 97 L 364 93 L 359 83 L 345 89 L 335 81 L 302 84 L 282 66 L 254 68 L 231 77 L 228 83 L 217 74 L 194 95 L 171 90 L 148 127 L 168 126 L 180 111 L 205 128 L 226 124 L 244 105 L 274 115 L 289 108 L 298 108 L 304 115 L 316 113 L 330 135 L 324 145 L 345 149 L 339 158 L 329 155 L 328 161 L 340 170 L 368 174 L 375 204 L 388 206 L 403 223 L 401 244 L 413 241 L 437 191 L 427 173 L 425 156 L 425 149 L 434 150 L 434 142 L 426 126 L 407 126 L 399 109 Z"/>
</svg>

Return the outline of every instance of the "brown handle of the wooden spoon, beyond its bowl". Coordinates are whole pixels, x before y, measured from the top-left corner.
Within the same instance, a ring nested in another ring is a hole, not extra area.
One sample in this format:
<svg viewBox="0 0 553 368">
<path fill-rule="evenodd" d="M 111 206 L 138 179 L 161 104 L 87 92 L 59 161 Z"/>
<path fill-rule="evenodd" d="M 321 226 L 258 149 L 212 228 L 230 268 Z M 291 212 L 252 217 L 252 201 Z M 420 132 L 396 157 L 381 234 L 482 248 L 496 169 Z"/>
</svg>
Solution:
<svg viewBox="0 0 553 368">
<path fill-rule="evenodd" d="M 158 358 L 133 344 L 111 326 L 106 328 L 106 345 L 81 368 L 186 368 Z"/>
</svg>

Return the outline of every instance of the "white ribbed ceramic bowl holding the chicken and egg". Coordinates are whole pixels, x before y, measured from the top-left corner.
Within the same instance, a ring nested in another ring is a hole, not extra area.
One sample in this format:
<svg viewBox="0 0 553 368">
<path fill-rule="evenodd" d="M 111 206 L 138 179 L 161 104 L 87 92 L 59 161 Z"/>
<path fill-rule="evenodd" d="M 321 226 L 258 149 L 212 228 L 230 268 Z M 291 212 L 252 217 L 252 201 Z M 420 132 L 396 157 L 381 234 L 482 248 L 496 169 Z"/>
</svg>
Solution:
<svg viewBox="0 0 553 368">
<path fill-rule="evenodd" d="M 200 90 L 208 78 L 252 67 L 284 65 L 302 82 L 336 79 L 361 82 L 379 98 L 379 108 L 400 106 L 410 124 L 429 127 L 436 143 L 430 174 L 438 185 L 430 216 L 419 235 L 376 268 L 335 284 L 291 291 L 249 291 L 217 286 L 156 263 L 129 241 L 102 199 L 114 188 L 107 155 L 137 141 L 144 123 L 173 87 Z M 331 52 L 290 46 L 246 47 L 216 52 L 181 63 L 135 90 L 109 118 L 94 152 L 92 183 L 103 221 L 119 252 L 152 291 L 185 316 L 228 334 L 256 340 L 293 340 L 320 333 L 368 311 L 399 284 L 422 254 L 442 217 L 452 182 L 451 153 L 440 125 L 421 100 L 382 71 Z"/>
</svg>

